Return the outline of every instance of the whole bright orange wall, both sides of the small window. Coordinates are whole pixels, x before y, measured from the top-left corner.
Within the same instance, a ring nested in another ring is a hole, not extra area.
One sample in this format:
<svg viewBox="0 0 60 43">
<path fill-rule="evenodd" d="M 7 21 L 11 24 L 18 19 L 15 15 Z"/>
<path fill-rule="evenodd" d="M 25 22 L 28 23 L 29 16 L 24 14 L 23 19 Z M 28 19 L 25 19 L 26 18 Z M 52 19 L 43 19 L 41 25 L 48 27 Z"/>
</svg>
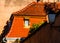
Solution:
<svg viewBox="0 0 60 43">
<path fill-rule="evenodd" d="M 45 19 L 45 18 L 44 18 Z M 30 26 L 33 23 L 43 22 L 42 18 L 29 18 Z M 14 17 L 11 30 L 6 37 L 27 37 L 29 33 L 29 28 L 24 28 L 24 18 L 23 17 Z"/>
</svg>

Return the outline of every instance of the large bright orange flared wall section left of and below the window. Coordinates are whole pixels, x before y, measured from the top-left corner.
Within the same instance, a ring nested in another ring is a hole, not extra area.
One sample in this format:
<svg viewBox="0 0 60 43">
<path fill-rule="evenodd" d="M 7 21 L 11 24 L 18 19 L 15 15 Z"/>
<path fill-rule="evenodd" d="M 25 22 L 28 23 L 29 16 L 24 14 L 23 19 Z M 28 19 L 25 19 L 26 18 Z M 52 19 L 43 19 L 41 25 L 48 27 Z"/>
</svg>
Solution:
<svg viewBox="0 0 60 43">
<path fill-rule="evenodd" d="M 14 17 L 11 30 L 7 34 L 8 37 L 27 37 L 28 36 L 29 29 L 24 29 L 24 21 L 23 18 L 20 17 Z"/>
</svg>

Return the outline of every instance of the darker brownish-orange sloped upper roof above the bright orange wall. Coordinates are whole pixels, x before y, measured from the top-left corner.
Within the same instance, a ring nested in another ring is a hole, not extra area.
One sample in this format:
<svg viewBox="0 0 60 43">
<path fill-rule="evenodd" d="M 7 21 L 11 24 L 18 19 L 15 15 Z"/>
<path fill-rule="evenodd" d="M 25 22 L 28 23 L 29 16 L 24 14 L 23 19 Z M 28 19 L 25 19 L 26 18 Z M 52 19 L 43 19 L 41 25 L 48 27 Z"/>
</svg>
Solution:
<svg viewBox="0 0 60 43">
<path fill-rule="evenodd" d="M 32 2 L 29 5 L 27 5 L 22 10 L 19 10 L 17 12 L 14 12 L 12 14 L 16 15 L 32 15 L 32 16 L 40 16 L 40 15 L 46 15 L 44 11 L 44 3 L 40 2 Z"/>
</svg>

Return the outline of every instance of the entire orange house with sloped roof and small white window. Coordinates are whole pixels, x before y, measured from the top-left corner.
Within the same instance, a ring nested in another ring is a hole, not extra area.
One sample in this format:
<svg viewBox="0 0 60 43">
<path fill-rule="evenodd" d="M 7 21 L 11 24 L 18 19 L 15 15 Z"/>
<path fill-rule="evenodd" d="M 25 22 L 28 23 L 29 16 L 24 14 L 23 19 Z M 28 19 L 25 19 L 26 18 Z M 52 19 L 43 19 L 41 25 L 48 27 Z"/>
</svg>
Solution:
<svg viewBox="0 0 60 43">
<path fill-rule="evenodd" d="M 41 10 L 40 10 L 41 9 Z M 32 2 L 20 11 L 12 13 L 13 22 L 10 31 L 5 36 L 7 43 L 11 40 L 26 38 L 29 35 L 33 24 L 46 21 L 46 13 L 44 11 L 44 3 Z"/>
</svg>

